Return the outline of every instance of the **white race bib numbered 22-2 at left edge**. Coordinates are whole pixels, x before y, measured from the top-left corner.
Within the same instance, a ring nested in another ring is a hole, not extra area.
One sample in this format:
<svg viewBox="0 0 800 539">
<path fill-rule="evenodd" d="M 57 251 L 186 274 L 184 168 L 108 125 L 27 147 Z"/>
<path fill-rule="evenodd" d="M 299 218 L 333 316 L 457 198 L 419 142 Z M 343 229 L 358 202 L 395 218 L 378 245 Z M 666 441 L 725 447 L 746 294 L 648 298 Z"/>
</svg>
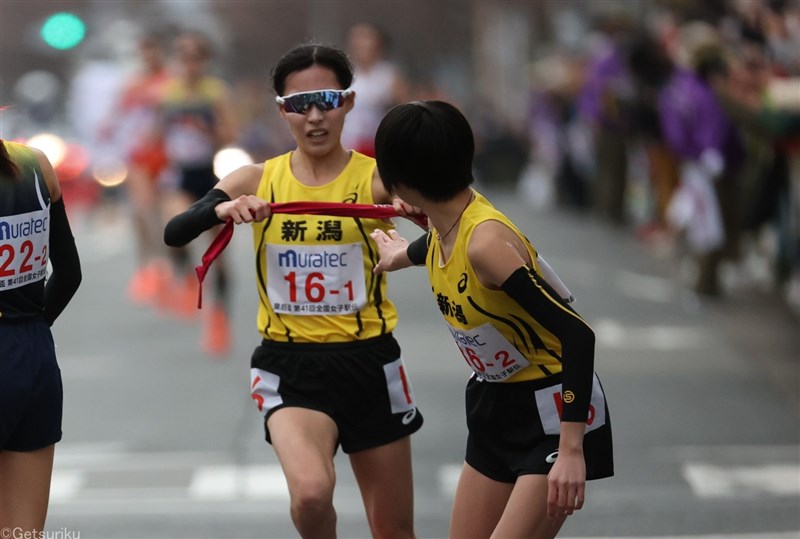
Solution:
<svg viewBox="0 0 800 539">
<path fill-rule="evenodd" d="M 48 210 L 0 217 L 0 290 L 47 276 L 49 228 Z"/>
</svg>

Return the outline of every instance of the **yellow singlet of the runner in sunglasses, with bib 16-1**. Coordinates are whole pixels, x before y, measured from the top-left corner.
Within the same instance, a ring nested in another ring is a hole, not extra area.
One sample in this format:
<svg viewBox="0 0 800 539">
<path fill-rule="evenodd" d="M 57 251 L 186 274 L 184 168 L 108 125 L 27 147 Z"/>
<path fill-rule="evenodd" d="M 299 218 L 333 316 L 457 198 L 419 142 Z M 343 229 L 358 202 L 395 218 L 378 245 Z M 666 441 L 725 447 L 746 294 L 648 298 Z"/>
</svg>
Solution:
<svg viewBox="0 0 800 539">
<path fill-rule="evenodd" d="M 351 152 L 333 181 L 301 183 L 291 152 L 264 164 L 256 195 L 269 202 L 373 204 L 375 160 Z M 281 342 L 349 342 L 391 332 L 397 312 L 386 297 L 386 277 L 375 275 L 378 250 L 369 233 L 388 231 L 381 219 L 272 214 L 253 223 L 258 329 Z"/>
</svg>

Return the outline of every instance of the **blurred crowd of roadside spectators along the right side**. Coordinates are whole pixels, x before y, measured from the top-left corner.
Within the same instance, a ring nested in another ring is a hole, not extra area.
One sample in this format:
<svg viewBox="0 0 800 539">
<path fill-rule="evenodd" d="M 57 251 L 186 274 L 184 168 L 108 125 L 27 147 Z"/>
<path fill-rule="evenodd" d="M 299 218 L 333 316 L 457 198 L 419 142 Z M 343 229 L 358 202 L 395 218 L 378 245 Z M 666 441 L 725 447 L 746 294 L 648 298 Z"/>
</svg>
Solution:
<svg viewBox="0 0 800 539">
<path fill-rule="evenodd" d="M 533 64 L 522 192 L 630 229 L 702 296 L 800 313 L 800 4 L 607 17 L 587 43 Z"/>
</svg>

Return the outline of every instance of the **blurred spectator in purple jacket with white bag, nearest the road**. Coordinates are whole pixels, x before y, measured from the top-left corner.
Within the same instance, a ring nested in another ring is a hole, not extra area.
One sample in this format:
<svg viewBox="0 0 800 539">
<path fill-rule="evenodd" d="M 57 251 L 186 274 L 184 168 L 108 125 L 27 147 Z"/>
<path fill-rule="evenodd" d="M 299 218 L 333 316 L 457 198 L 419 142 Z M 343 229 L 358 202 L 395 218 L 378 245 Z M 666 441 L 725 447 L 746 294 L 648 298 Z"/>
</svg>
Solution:
<svg viewBox="0 0 800 539">
<path fill-rule="evenodd" d="M 736 255 L 737 175 L 743 160 L 738 132 L 712 90 L 712 79 L 727 74 L 725 63 L 721 56 L 704 59 L 697 70 L 701 77 L 676 66 L 647 36 L 632 46 L 629 66 L 637 82 L 653 92 L 662 136 L 681 161 L 668 219 L 685 232 L 697 255 L 695 290 L 717 296 L 720 263 Z"/>
</svg>

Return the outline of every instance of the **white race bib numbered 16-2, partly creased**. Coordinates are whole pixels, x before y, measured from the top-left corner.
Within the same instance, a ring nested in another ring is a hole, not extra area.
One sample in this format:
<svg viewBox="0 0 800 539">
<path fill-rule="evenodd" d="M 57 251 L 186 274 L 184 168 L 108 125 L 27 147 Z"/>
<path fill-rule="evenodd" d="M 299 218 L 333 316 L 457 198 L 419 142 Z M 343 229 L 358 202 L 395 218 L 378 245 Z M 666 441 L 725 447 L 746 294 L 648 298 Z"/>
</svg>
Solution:
<svg viewBox="0 0 800 539">
<path fill-rule="evenodd" d="M 530 365 L 525 356 L 491 324 L 467 330 L 448 324 L 448 329 L 467 365 L 482 380 L 502 382 Z"/>
</svg>

